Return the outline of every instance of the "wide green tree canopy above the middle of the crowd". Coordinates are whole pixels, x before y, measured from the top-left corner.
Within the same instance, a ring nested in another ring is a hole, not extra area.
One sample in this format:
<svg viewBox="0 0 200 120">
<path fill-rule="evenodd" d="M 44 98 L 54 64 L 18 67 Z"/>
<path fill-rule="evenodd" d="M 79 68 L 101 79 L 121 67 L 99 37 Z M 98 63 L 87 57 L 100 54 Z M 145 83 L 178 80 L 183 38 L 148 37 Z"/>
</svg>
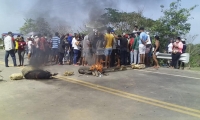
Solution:
<svg viewBox="0 0 200 120">
<path fill-rule="evenodd" d="M 101 16 L 100 21 L 113 27 L 118 34 L 122 32 L 131 33 L 134 26 L 143 26 L 145 29 L 150 29 L 154 20 L 146 18 L 140 12 L 120 12 L 116 9 L 106 8 L 106 12 Z"/>
</svg>

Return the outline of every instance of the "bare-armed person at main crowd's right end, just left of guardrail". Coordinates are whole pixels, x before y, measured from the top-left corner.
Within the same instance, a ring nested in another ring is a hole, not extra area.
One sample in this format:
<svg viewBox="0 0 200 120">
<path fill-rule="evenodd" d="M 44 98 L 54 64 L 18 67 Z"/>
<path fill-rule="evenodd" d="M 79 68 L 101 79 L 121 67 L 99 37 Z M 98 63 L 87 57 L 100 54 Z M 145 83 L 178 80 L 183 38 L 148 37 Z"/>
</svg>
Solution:
<svg viewBox="0 0 200 120">
<path fill-rule="evenodd" d="M 159 36 L 155 36 L 153 60 L 154 60 L 154 68 L 156 68 L 156 69 L 158 69 L 160 67 L 158 64 L 158 60 L 157 60 L 157 55 L 159 54 L 159 50 L 160 50 Z"/>
</svg>

